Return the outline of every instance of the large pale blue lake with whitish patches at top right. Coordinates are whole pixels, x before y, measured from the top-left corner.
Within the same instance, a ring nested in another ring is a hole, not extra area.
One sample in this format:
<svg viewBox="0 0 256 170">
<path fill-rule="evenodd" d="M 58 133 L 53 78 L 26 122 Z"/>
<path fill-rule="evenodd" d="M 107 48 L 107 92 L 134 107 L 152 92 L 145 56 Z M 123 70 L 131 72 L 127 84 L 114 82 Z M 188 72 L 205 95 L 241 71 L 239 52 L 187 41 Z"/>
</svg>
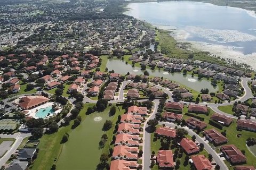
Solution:
<svg viewBox="0 0 256 170">
<path fill-rule="evenodd" d="M 243 55 L 256 52 L 256 18 L 241 8 L 188 1 L 131 3 L 127 8 L 124 14 L 172 30 L 175 39 L 225 47 Z"/>
</svg>

